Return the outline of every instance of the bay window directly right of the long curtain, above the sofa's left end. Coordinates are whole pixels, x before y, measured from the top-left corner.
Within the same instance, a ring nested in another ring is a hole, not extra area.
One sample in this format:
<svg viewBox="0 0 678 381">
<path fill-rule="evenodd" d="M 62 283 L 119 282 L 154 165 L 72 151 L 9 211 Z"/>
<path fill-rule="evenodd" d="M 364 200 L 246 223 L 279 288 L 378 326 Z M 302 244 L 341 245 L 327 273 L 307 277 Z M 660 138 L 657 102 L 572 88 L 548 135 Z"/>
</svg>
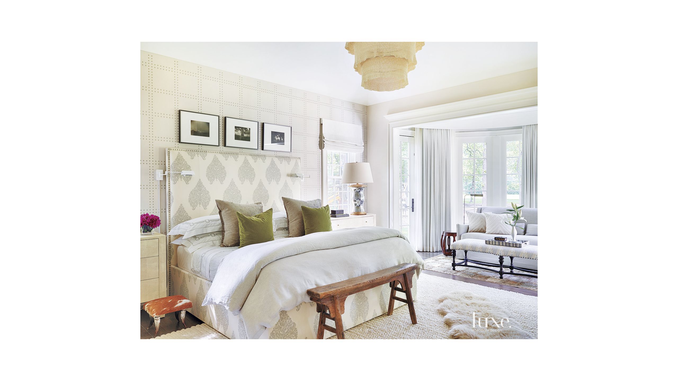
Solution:
<svg viewBox="0 0 678 381">
<path fill-rule="evenodd" d="M 464 214 L 487 205 L 487 142 L 462 143 Z"/>
</svg>

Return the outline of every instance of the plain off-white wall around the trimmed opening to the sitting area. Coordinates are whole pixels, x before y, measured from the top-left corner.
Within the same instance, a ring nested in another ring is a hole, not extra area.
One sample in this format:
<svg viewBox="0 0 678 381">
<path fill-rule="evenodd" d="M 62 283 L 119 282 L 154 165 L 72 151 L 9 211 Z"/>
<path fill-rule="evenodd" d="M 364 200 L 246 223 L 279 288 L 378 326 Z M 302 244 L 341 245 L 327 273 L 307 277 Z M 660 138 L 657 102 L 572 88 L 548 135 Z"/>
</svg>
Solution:
<svg viewBox="0 0 678 381">
<path fill-rule="evenodd" d="M 367 125 L 369 126 L 367 128 L 367 161 L 370 162 L 374 178 L 374 183 L 368 184 L 370 193 L 366 194 L 366 197 L 369 197 L 370 208 L 367 212 L 377 215 L 377 225 L 388 227 L 388 134 L 390 132 L 384 115 L 511 92 L 536 85 L 537 69 L 534 68 L 367 106 Z"/>
</svg>

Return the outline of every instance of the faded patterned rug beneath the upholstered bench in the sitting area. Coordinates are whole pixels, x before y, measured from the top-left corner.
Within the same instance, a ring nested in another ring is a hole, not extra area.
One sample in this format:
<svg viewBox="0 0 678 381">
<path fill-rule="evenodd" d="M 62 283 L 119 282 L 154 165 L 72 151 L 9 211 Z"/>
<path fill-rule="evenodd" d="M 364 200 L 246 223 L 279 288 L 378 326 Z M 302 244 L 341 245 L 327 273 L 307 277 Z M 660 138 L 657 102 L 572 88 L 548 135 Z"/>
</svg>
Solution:
<svg viewBox="0 0 678 381">
<path fill-rule="evenodd" d="M 457 257 L 457 262 L 459 262 L 459 257 Z M 506 262 L 504 262 L 504 264 L 506 264 Z M 435 271 L 436 273 L 458 275 L 460 277 L 478 279 L 480 281 L 498 283 L 500 285 L 510 285 L 513 287 L 520 287 L 524 289 L 532 289 L 534 291 L 537 291 L 537 278 L 520 277 L 510 274 L 506 275 L 506 273 L 504 273 L 504 279 L 499 279 L 498 273 L 494 273 L 488 270 L 482 270 L 480 268 L 464 266 L 458 266 L 456 270 L 452 270 L 452 257 L 447 257 L 444 256 L 443 254 L 424 260 L 424 268 L 426 268 L 426 270 Z M 524 274 L 522 271 L 518 270 L 514 271 L 517 274 Z"/>
</svg>

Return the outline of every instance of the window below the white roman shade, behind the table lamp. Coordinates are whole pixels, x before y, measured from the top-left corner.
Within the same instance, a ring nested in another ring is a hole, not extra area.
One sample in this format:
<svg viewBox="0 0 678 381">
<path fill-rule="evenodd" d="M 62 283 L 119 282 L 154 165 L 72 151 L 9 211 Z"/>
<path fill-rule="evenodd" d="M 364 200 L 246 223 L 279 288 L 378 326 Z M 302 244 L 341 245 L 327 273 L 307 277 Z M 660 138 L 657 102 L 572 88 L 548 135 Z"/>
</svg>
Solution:
<svg viewBox="0 0 678 381">
<path fill-rule="evenodd" d="M 349 184 L 341 183 L 341 177 L 344 174 L 344 164 L 355 161 L 355 154 L 325 151 L 324 159 L 327 205 L 330 205 L 330 209 L 344 209 L 345 213 L 350 213 L 351 190 L 348 188 Z"/>
</svg>

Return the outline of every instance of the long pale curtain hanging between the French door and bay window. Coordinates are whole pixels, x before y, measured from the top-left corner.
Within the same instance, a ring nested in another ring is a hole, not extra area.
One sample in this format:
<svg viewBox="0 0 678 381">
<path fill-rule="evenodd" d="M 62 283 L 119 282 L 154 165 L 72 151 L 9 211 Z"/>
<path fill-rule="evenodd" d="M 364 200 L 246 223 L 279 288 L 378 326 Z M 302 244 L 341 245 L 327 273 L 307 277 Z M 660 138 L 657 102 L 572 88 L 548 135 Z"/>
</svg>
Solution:
<svg viewBox="0 0 678 381">
<path fill-rule="evenodd" d="M 412 245 L 420 252 L 439 251 L 441 234 L 452 228 L 453 136 L 449 129 L 414 131 Z"/>
</svg>

